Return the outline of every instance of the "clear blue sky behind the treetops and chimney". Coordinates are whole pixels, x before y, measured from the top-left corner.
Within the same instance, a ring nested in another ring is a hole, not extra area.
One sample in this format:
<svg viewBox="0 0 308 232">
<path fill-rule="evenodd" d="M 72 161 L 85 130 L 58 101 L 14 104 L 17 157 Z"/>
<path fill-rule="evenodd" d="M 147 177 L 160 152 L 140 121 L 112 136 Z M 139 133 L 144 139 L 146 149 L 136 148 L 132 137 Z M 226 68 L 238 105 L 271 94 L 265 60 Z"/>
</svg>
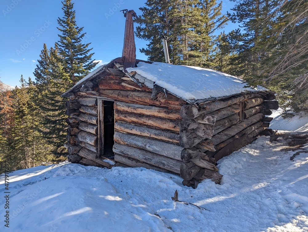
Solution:
<svg viewBox="0 0 308 232">
<path fill-rule="evenodd" d="M 139 7 L 145 0 L 74 0 L 76 21 L 84 27 L 85 43 L 91 43 L 94 59 L 100 63 L 122 55 L 125 18 L 120 10 Z M 233 3 L 224 0 L 223 12 Z M 39 59 L 43 43 L 53 47 L 58 41 L 57 18 L 63 16 L 60 0 L 1 0 L 0 3 L 0 77 L 3 83 L 19 86 L 20 76 L 30 76 Z M 234 28 L 227 25 L 226 32 Z M 135 38 L 137 59 L 147 57 L 139 52 L 146 41 Z"/>
</svg>

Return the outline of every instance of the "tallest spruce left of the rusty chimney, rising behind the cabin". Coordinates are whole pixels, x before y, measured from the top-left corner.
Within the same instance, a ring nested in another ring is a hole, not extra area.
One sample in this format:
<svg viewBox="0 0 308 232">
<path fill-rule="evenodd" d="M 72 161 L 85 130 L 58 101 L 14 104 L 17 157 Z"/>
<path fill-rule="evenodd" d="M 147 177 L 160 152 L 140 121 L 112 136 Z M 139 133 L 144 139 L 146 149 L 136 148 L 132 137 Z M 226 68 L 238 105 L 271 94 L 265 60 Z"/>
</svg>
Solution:
<svg viewBox="0 0 308 232">
<path fill-rule="evenodd" d="M 64 61 L 63 68 L 71 79 L 71 87 L 89 73 L 97 64 L 92 60 L 90 53 L 92 48 L 88 48 L 91 43 L 83 44 L 82 39 L 86 33 L 82 33 L 83 27 L 78 27 L 75 19 L 74 3 L 71 0 L 62 2 L 63 18 L 58 18 L 58 30 L 61 32 L 57 47 L 59 49 L 59 62 Z M 62 63 L 62 62 L 61 62 Z"/>
</svg>

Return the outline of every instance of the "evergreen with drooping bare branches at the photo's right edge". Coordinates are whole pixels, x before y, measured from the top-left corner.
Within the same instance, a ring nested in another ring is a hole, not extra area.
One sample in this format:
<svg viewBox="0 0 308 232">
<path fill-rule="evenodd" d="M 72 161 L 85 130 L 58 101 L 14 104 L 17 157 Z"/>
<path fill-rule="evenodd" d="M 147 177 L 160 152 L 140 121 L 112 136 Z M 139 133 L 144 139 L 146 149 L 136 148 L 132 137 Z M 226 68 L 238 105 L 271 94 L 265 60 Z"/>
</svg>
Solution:
<svg viewBox="0 0 308 232">
<path fill-rule="evenodd" d="M 308 2 L 268 2 L 256 49 L 262 51 L 255 79 L 278 92 L 285 111 L 308 110 Z M 288 93 L 286 95 L 286 93 Z"/>
</svg>

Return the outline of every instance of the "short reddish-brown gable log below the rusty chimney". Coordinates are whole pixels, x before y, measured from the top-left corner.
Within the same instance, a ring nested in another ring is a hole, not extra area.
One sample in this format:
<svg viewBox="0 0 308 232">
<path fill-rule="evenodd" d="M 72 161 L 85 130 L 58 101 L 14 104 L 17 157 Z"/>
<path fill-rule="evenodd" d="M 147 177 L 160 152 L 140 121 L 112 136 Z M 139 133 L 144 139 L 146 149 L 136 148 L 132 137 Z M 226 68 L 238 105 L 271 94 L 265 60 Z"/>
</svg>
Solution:
<svg viewBox="0 0 308 232">
<path fill-rule="evenodd" d="M 98 79 L 97 83 L 100 89 L 152 92 L 151 88 L 147 86 L 139 86 L 131 80 Z"/>
</svg>

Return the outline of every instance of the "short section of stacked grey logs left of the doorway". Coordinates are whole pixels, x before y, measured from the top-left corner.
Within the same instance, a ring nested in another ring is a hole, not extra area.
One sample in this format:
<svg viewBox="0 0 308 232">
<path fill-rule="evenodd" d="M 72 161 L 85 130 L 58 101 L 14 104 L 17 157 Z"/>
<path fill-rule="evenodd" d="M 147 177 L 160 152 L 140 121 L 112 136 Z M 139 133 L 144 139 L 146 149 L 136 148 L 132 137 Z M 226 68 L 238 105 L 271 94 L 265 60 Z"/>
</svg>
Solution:
<svg viewBox="0 0 308 232">
<path fill-rule="evenodd" d="M 67 100 L 67 143 L 70 162 L 111 168 L 99 156 L 97 98 L 74 95 Z"/>
</svg>

